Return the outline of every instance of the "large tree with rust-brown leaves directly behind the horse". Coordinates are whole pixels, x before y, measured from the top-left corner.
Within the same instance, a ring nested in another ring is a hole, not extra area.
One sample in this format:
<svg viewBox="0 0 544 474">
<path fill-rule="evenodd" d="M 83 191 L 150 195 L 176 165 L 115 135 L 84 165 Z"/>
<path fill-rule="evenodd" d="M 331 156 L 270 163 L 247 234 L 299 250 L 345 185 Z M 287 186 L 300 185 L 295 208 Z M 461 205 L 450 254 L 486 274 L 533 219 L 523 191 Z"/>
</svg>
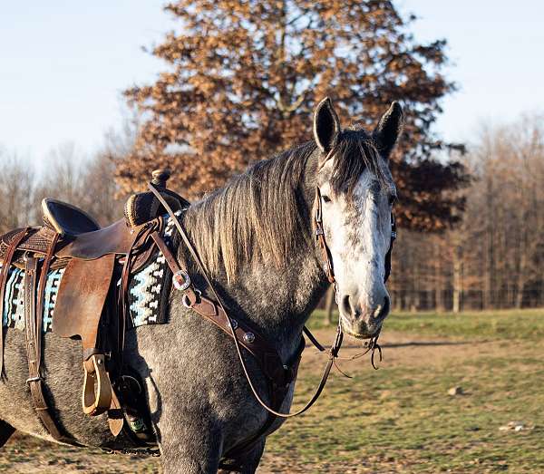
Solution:
<svg viewBox="0 0 544 474">
<path fill-rule="evenodd" d="M 406 123 L 392 157 L 403 227 L 441 229 L 460 218 L 467 182 L 460 163 L 433 159 L 432 133 L 445 41 L 419 44 L 390 1 L 179 0 L 165 7 L 180 31 L 152 53 L 168 67 L 125 92 L 143 121 L 117 170 L 125 192 L 154 168 L 191 197 L 221 185 L 253 160 L 311 137 L 311 113 L 325 95 L 347 121 L 370 126 L 390 102 Z"/>
</svg>

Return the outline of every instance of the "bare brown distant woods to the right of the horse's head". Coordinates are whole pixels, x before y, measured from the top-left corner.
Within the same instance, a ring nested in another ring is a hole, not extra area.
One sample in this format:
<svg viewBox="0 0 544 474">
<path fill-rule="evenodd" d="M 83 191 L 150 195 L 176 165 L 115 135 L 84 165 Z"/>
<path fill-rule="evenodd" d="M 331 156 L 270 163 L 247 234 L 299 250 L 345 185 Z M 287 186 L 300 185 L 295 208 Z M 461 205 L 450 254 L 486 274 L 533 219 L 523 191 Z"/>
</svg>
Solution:
<svg viewBox="0 0 544 474">
<path fill-rule="evenodd" d="M 458 227 L 400 229 L 389 283 L 396 309 L 544 305 L 542 119 L 481 131 L 466 157 L 474 180 Z"/>
</svg>

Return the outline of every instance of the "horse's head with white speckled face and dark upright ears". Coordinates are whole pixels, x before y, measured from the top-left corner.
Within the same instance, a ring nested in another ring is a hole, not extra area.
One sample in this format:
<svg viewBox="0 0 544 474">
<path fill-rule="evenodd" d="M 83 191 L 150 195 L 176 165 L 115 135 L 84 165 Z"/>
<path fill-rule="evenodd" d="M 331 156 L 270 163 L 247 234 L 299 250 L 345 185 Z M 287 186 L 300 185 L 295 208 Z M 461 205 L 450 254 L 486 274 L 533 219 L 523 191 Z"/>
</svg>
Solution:
<svg viewBox="0 0 544 474">
<path fill-rule="evenodd" d="M 372 133 L 359 126 L 342 130 L 328 98 L 317 105 L 314 116 L 316 220 L 321 220 L 342 327 L 357 338 L 379 334 L 389 313 L 384 280 L 396 189 L 388 160 L 402 127 L 398 102 Z"/>
</svg>

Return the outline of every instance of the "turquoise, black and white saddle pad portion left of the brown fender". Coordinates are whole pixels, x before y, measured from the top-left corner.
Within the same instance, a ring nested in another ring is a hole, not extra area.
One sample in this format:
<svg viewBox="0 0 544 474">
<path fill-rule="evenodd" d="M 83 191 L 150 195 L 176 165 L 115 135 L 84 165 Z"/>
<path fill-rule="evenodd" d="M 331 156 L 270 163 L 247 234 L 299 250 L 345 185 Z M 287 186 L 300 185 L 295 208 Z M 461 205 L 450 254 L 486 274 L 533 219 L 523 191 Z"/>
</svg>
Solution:
<svg viewBox="0 0 544 474">
<path fill-rule="evenodd" d="M 0 265 L 1 266 L 1 265 Z M 51 331 L 53 312 L 64 269 L 52 270 L 47 274 L 44 293 L 44 333 Z M 12 266 L 9 271 L 4 295 L 2 324 L 24 331 L 24 270 Z"/>
</svg>

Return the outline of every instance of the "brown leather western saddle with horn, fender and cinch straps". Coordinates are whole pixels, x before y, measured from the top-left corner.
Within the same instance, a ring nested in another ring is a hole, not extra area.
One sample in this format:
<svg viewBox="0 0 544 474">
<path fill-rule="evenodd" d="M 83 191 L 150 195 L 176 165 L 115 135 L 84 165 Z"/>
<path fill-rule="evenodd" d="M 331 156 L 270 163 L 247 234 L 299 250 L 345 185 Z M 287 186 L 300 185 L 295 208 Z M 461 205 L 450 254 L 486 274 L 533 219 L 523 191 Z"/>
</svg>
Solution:
<svg viewBox="0 0 544 474">
<path fill-rule="evenodd" d="M 151 183 L 170 208 L 189 202 L 166 188 L 170 170 L 153 171 Z M 83 345 L 83 411 L 108 413 L 110 429 L 125 430 L 140 445 L 151 441 L 147 410 L 135 401 L 133 384 L 122 363 L 127 326 L 130 276 L 146 264 L 155 246 L 151 234 L 164 227 L 166 214 L 152 192 L 132 195 L 125 216 L 101 228 L 83 210 L 52 198 L 42 202 L 44 227 L 25 227 L 0 237 L 0 315 L 4 316 L 5 286 L 10 268 L 24 269 L 24 333 L 34 408 L 56 440 L 73 443 L 59 430 L 44 398 L 42 331 L 44 289 L 50 270 L 63 268 L 53 317 L 53 333 L 80 338 Z M 4 333 L 0 331 L 0 374 L 4 372 Z M 139 421 L 139 422 L 138 422 Z M 140 429 L 134 429 L 139 425 Z M 134 436 L 135 435 L 135 436 Z"/>
</svg>

